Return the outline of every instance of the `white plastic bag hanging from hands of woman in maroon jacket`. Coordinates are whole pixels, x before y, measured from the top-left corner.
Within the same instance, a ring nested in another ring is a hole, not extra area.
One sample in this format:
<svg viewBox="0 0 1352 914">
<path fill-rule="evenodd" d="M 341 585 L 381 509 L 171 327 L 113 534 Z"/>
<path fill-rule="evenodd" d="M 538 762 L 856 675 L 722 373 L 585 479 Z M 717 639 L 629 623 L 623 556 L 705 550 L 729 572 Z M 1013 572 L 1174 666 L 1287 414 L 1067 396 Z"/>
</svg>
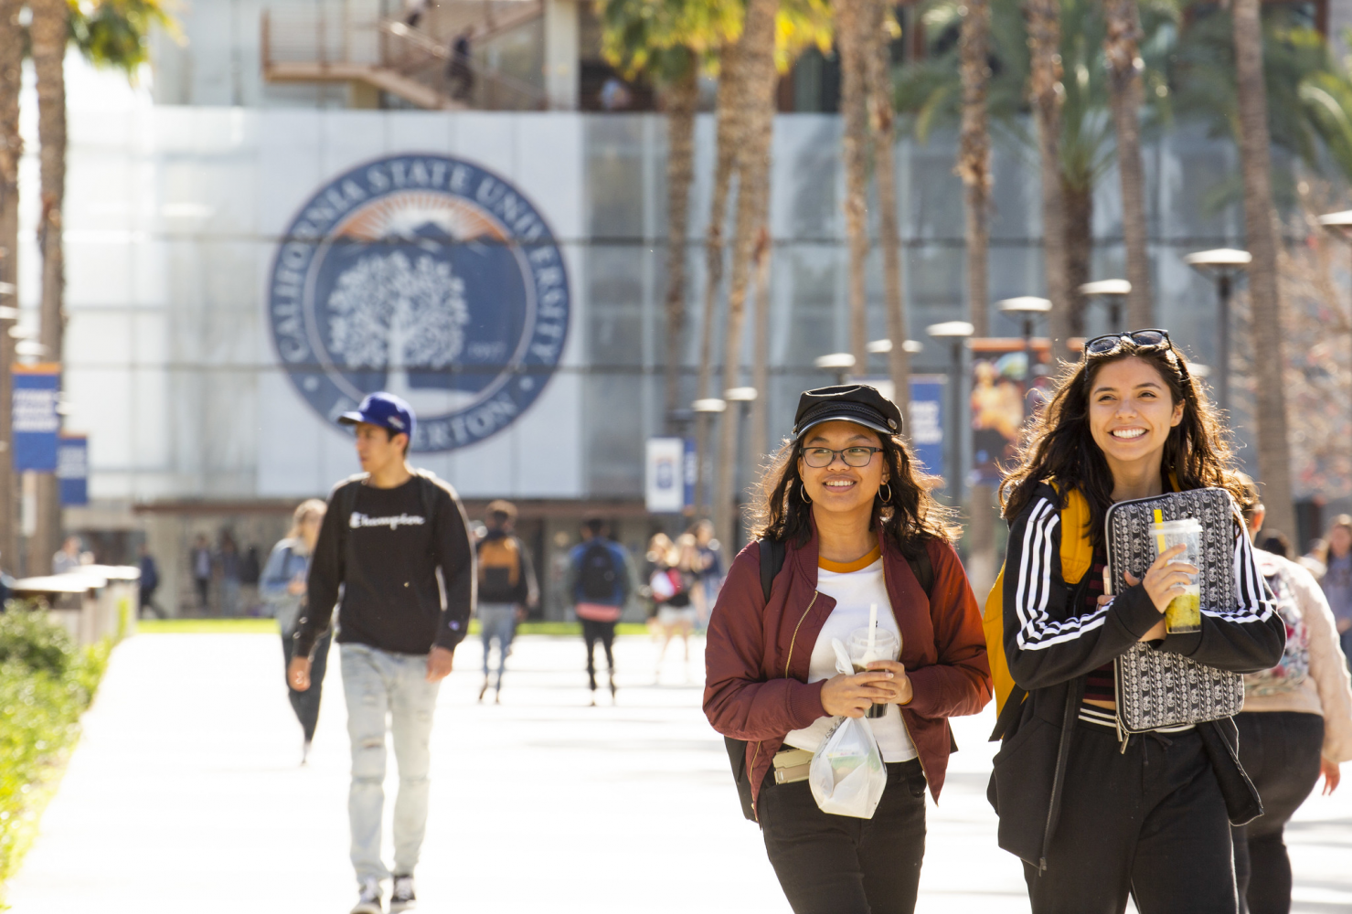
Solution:
<svg viewBox="0 0 1352 914">
<path fill-rule="evenodd" d="M 852 675 L 854 669 L 845 645 L 833 638 L 831 646 L 836 648 L 836 669 Z M 867 718 L 841 718 L 813 753 L 807 783 L 823 813 L 873 818 L 887 787 L 887 767 Z"/>
</svg>

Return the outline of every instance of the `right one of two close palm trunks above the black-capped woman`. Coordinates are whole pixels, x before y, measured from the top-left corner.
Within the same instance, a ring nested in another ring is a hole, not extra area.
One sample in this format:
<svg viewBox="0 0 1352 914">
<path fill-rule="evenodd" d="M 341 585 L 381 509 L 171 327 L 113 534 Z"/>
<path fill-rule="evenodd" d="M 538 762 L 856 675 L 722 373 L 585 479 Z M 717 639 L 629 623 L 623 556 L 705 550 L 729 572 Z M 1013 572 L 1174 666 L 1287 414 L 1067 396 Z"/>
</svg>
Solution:
<svg viewBox="0 0 1352 914">
<path fill-rule="evenodd" d="M 902 410 L 904 427 L 910 429 L 911 357 L 904 345 L 906 302 L 902 295 L 902 230 L 896 219 L 896 164 L 892 155 L 896 130 L 892 116 L 892 57 L 887 42 L 887 1 L 868 0 L 867 11 L 868 41 L 864 59 L 868 68 L 869 127 L 873 133 L 873 177 L 877 181 L 877 234 L 883 246 L 887 335 L 892 341 L 887 366 L 892 376 L 892 398 Z"/>
</svg>

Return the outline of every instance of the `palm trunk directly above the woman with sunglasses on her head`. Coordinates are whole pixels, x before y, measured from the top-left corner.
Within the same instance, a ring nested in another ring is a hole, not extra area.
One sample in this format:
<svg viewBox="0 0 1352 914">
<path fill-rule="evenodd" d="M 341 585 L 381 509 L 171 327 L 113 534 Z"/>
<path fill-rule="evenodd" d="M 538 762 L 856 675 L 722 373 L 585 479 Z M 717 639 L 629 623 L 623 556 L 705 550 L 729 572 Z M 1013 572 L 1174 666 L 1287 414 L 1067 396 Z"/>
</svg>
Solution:
<svg viewBox="0 0 1352 914">
<path fill-rule="evenodd" d="M 1117 170 L 1122 177 L 1122 238 L 1126 242 L 1126 280 L 1132 293 L 1126 299 L 1129 327 L 1155 326 L 1151 297 L 1151 256 L 1145 241 L 1145 174 L 1141 169 L 1141 39 L 1140 12 L 1136 0 L 1105 0 L 1110 105 L 1117 128 Z"/>
</svg>

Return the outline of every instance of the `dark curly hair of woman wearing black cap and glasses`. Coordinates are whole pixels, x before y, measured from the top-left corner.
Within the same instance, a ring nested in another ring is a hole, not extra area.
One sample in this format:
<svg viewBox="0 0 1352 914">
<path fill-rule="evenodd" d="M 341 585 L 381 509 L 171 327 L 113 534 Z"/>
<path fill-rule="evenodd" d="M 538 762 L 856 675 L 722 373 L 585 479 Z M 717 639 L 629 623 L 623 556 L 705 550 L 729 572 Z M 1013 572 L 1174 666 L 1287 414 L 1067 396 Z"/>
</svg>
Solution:
<svg viewBox="0 0 1352 914">
<path fill-rule="evenodd" d="M 883 535 L 907 558 L 918 557 L 927 539 L 957 539 L 961 530 L 955 523 L 956 511 L 940 504 L 933 495 L 938 477 L 919 471 L 902 438 L 877 437 L 890 471 L 892 498 L 884 502 L 882 495 L 873 496 L 875 527 L 882 523 Z M 802 546 L 811 537 L 813 506 L 803 500 L 803 479 L 798 473 L 802 454 L 802 442 L 786 438 L 761 472 L 748 525 L 753 538 L 792 541 Z"/>
</svg>

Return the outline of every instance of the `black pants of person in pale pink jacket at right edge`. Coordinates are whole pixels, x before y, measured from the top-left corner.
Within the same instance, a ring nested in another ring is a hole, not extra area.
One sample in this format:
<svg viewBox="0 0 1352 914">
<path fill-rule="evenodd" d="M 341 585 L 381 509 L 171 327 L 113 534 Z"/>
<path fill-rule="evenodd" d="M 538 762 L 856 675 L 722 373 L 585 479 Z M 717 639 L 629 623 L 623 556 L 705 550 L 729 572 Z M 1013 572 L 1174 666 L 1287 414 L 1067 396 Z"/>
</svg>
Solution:
<svg viewBox="0 0 1352 914">
<path fill-rule="evenodd" d="M 1282 832 L 1320 780 L 1324 718 L 1299 711 L 1249 711 L 1237 714 L 1234 723 L 1240 727 L 1240 764 L 1263 798 L 1263 815 L 1234 829 L 1240 910 L 1287 914 L 1291 859 Z"/>
</svg>

